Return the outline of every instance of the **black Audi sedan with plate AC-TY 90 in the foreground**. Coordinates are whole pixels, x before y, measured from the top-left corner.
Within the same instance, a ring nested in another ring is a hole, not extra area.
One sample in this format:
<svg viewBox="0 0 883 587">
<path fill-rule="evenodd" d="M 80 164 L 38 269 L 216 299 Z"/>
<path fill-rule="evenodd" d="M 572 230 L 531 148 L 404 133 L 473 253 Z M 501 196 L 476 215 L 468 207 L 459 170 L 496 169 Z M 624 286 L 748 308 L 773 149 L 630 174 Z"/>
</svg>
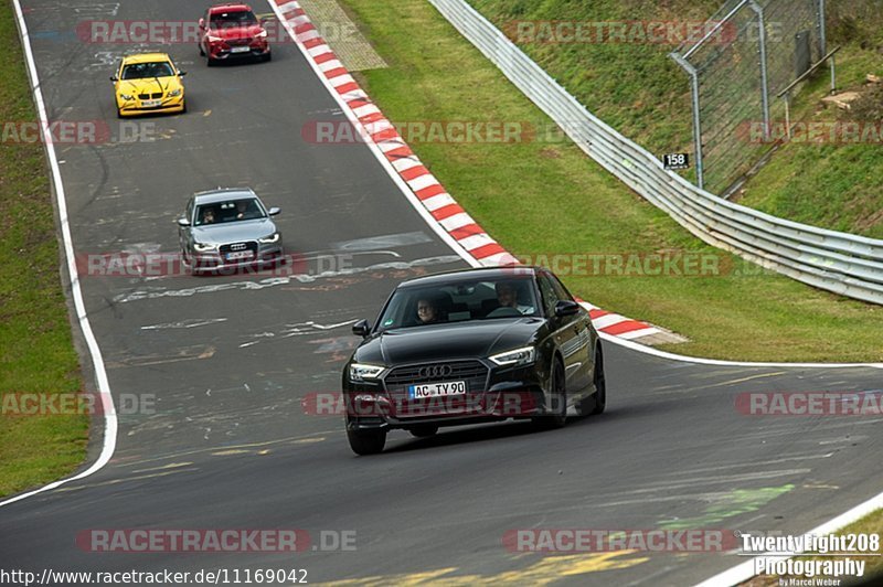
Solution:
<svg viewBox="0 0 883 587">
<path fill-rule="evenodd" d="M 380 452 L 391 429 L 600 414 L 600 340 L 588 312 L 542 267 L 467 269 L 400 284 L 343 369 L 347 436 Z"/>
</svg>

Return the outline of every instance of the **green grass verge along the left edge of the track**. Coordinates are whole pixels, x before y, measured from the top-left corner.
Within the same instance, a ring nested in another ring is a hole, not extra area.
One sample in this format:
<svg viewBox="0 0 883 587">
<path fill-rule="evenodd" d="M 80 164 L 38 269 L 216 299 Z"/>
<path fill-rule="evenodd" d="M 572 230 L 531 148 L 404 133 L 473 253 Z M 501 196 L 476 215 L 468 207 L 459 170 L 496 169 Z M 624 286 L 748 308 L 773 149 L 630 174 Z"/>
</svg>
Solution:
<svg viewBox="0 0 883 587">
<path fill-rule="evenodd" d="M 9 3 L 0 6 L 0 120 L 35 120 Z M 58 277 L 43 149 L 0 145 L 0 394 L 82 388 Z M 0 397 L 2 401 L 2 397 Z M 2 405 L 0 403 L 0 405 Z M 0 495 L 68 473 L 86 453 L 86 416 L 0 415 Z"/>
</svg>

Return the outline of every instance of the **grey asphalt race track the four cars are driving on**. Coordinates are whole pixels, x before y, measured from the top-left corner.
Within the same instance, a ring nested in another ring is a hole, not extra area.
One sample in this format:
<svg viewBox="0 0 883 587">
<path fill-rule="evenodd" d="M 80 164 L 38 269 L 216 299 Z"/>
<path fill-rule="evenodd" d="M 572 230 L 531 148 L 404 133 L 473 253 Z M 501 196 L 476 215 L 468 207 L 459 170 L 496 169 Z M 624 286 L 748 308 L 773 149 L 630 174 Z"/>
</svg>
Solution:
<svg viewBox="0 0 883 587">
<path fill-rule="evenodd" d="M 200 10 L 177 0 L 23 6 L 50 118 L 104 120 L 115 134 L 113 64 L 153 47 L 83 43 L 72 31 L 87 19 L 183 21 Z M 734 407 L 743 392 L 876 389 L 879 370 L 695 365 L 613 344 L 604 416 L 543 434 L 521 424 L 424 440 L 396 433 L 382 456 L 354 457 L 341 419 L 305 414 L 301 398 L 339 389 L 349 323 L 373 318 L 398 280 L 466 264 L 365 147 L 301 139 L 305 122 L 343 115 L 292 44 L 277 45 L 268 64 L 212 70 L 194 46 L 164 49 L 189 71 L 189 114 L 148 119 L 155 141 L 56 147 L 77 254 L 174 253 L 189 194 L 249 185 L 283 207 L 286 244 L 311 270 L 317 255 L 336 252 L 358 252 L 348 259 L 360 270 L 84 276 L 115 395 L 155 396 L 156 414 L 120 416 L 116 453 L 99 472 L 2 508 L 0 567 L 688 585 L 741 559 L 515 554 L 502 538 L 534 527 L 798 533 L 880 492 L 881 418 Z M 362 241 L 371 237 L 383 238 Z M 320 531 L 355 531 L 357 549 L 94 553 L 75 542 L 87 529 L 302 529 L 313 543 Z"/>
</svg>

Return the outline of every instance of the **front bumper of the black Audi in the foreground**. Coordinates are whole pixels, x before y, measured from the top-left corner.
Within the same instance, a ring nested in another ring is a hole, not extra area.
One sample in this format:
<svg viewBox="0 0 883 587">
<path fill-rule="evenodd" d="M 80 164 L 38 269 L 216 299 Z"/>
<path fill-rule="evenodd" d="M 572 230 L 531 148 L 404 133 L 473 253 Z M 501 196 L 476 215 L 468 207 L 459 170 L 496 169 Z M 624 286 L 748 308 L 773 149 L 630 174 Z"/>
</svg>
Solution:
<svg viewBox="0 0 883 587">
<path fill-rule="evenodd" d="M 351 430 L 407 429 L 417 425 L 460 426 L 545 412 L 544 374 L 538 365 L 489 369 L 486 385 L 465 395 L 409 399 L 390 391 L 384 381 L 353 383 L 344 371 L 347 427 Z"/>
</svg>

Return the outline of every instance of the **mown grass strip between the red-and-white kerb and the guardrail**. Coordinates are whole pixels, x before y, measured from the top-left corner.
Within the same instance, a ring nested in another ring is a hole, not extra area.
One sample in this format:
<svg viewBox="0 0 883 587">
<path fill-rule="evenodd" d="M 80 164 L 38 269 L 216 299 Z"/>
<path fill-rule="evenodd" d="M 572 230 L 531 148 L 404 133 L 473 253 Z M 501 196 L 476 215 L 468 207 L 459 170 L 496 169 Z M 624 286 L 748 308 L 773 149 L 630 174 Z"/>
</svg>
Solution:
<svg viewBox="0 0 883 587">
<path fill-rule="evenodd" d="M 390 68 L 364 72 L 394 122 L 544 121 L 424 0 L 345 0 Z M 415 34 L 414 31 L 419 31 Z M 412 143 L 455 199 L 503 246 L 538 254 L 648 254 L 703 245 L 570 142 Z M 883 308 L 777 275 L 564 276 L 583 298 L 687 335 L 670 350 L 752 361 L 881 361 Z"/>
</svg>

